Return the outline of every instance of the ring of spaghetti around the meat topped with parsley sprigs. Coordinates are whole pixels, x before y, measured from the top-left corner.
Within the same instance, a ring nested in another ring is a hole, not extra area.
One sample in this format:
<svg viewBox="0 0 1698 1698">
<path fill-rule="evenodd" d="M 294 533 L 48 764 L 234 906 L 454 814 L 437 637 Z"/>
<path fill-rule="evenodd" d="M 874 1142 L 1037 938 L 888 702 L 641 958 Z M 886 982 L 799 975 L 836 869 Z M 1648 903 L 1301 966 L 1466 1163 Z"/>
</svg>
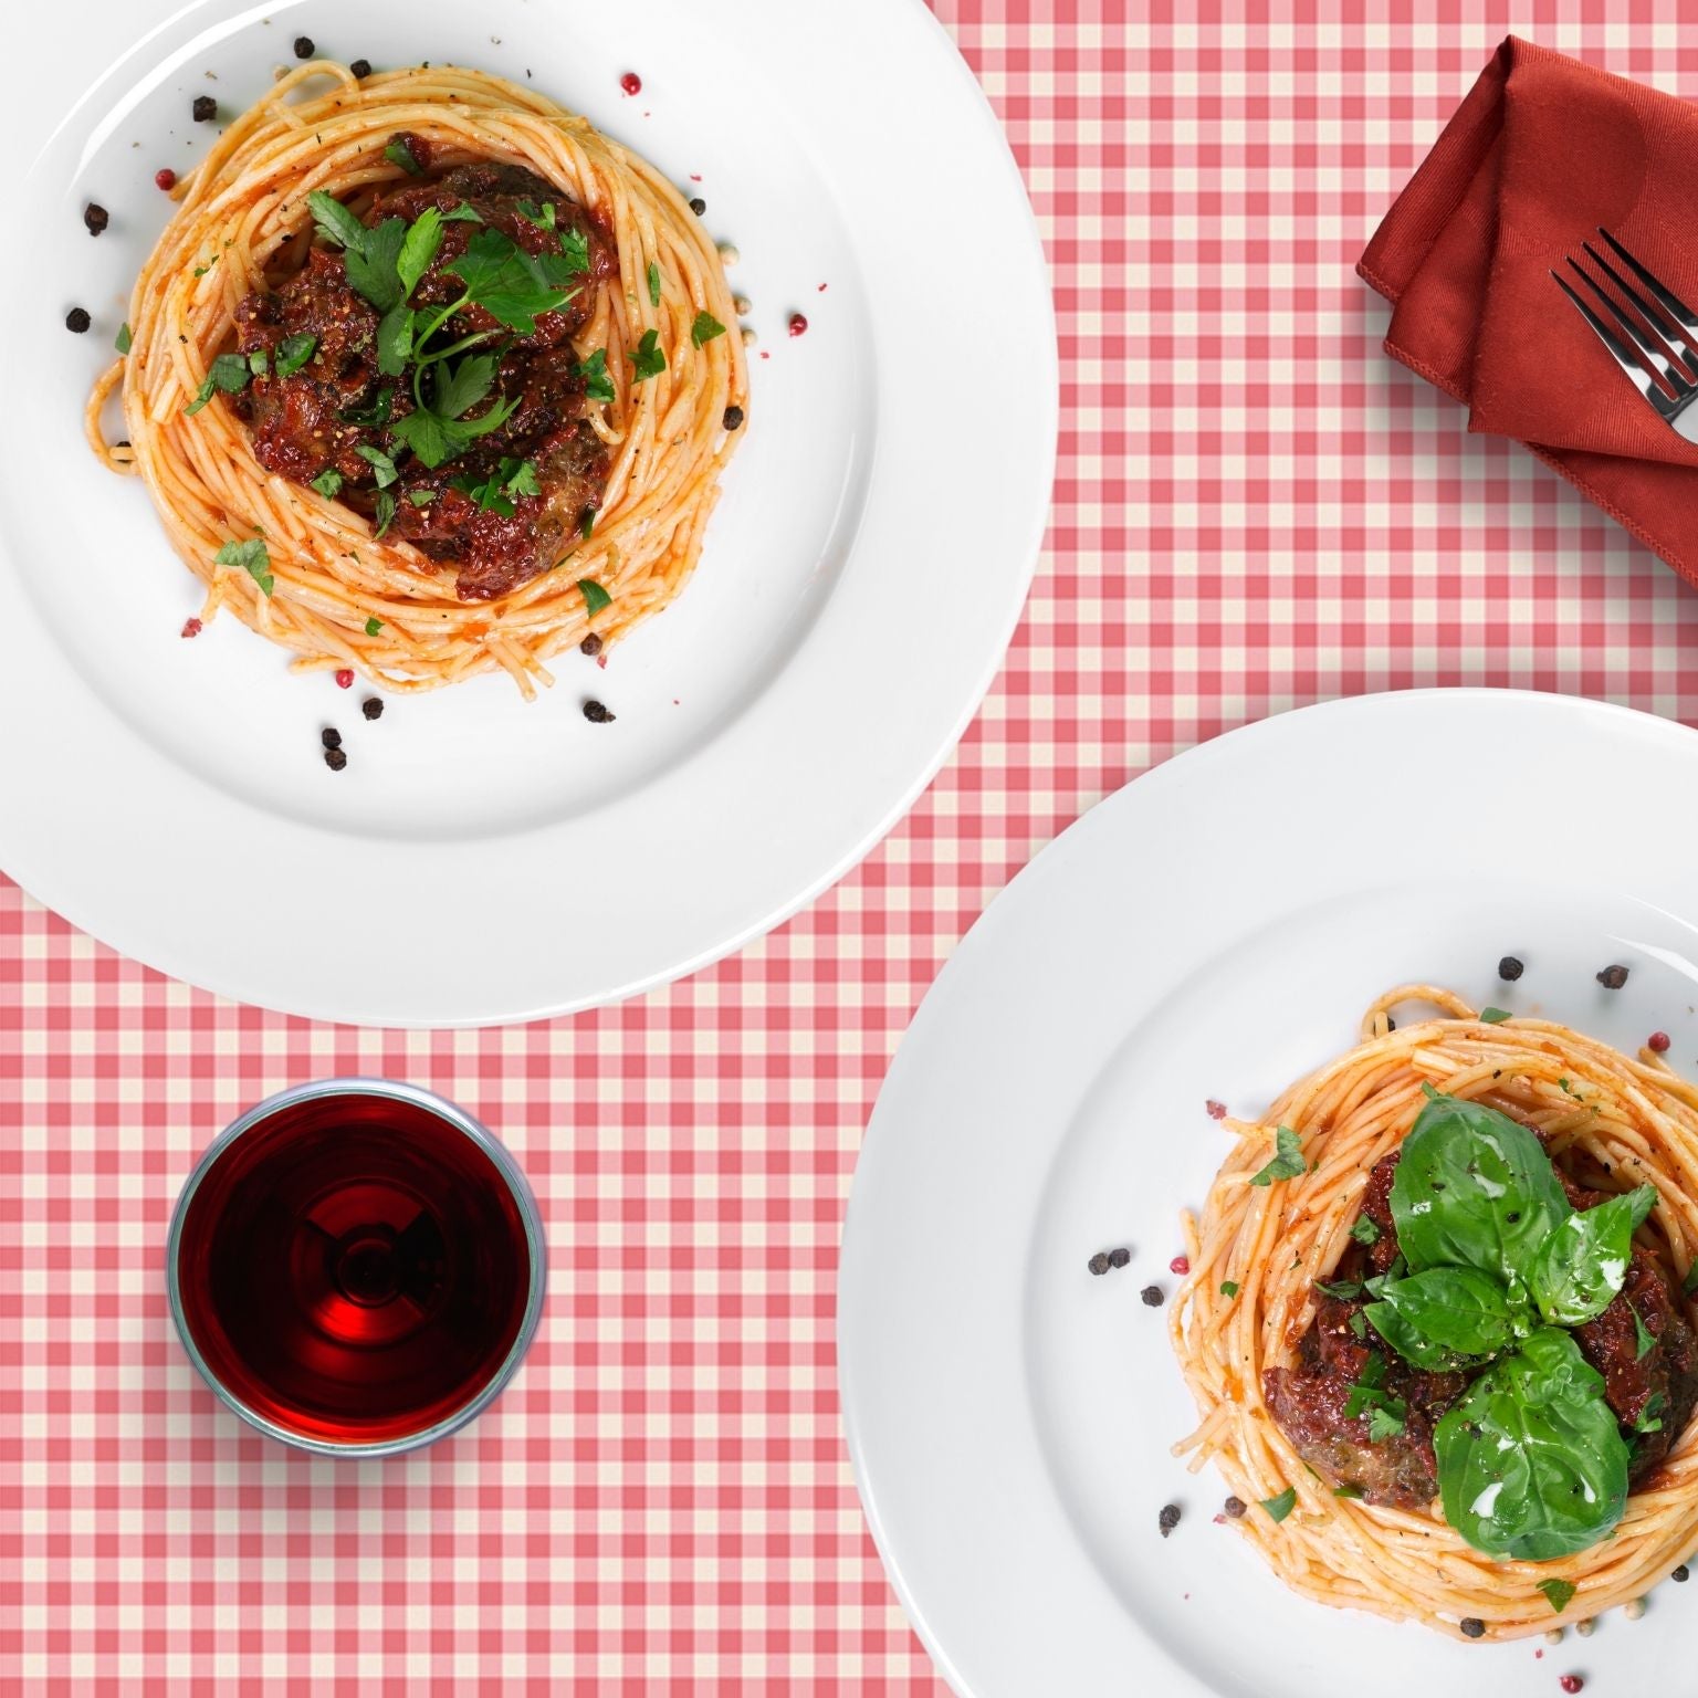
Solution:
<svg viewBox="0 0 1698 1698">
<path fill-rule="evenodd" d="M 613 387 L 591 409 L 610 455 L 604 501 L 564 569 L 498 601 L 458 599 L 452 567 L 377 540 L 379 526 L 351 508 L 267 472 L 226 394 L 185 413 L 231 345 L 243 297 L 299 267 L 312 233 L 307 195 L 323 190 L 362 212 L 404 175 L 385 156 L 397 132 L 424 138 L 443 166 L 525 166 L 610 231 L 616 251 L 574 338 L 581 358 L 604 350 Z M 175 195 L 180 207 L 136 278 L 129 351 L 95 385 L 87 431 L 114 470 L 146 481 L 171 545 L 207 584 L 204 618 L 231 608 L 295 650 L 299 669 L 353 667 L 397 691 L 501 669 L 530 696 L 552 681 L 548 655 L 591 627 L 616 642 L 679 593 L 737 441 L 723 421 L 747 399 L 747 372 L 722 258 L 654 166 L 498 76 L 440 66 L 355 78 L 314 61 L 236 119 Z M 701 341 L 708 319 L 715 336 Z M 730 335 L 718 335 L 727 324 Z M 119 385 L 126 441 L 109 447 L 100 409 Z M 265 542 L 268 584 L 216 562 L 246 538 Z"/>
</svg>

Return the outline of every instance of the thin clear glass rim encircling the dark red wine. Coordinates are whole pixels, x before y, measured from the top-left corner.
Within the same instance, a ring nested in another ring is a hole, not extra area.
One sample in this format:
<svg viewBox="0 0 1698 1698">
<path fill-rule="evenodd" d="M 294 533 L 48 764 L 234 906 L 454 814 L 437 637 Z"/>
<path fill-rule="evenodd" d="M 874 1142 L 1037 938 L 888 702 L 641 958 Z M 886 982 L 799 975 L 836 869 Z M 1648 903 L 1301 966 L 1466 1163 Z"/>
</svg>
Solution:
<svg viewBox="0 0 1698 1698">
<path fill-rule="evenodd" d="M 494 1168 L 501 1173 L 503 1180 L 506 1180 L 508 1189 L 513 1192 L 520 1219 L 525 1223 L 525 1250 L 530 1258 L 530 1289 L 525 1297 L 525 1314 L 520 1321 L 520 1330 L 513 1338 L 513 1345 L 501 1358 L 494 1374 L 489 1375 L 472 1397 L 450 1414 L 445 1414 L 440 1421 L 419 1428 L 416 1433 L 399 1433 L 392 1438 L 379 1440 L 338 1442 L 331 1438 L 318 1438 L 312 1433 L 301 1433 L 292 1426 L 284 1426 L 280 1421 L 270 1420 L 258 1409 L 246 1404 L 219 1380 L 219 1377 L 207 1365 L 205 1357 L 202 1357 L 200 1347 L 195 1343 L 194 1333 L 188 1326 L 188 1318 L 183 1313 L 182 1282 L 178 1279 L 178 1253 L 182 1248 L 183 1223 L 188 1216 L 188 1204 L 194 1200 L 202 1180 L 212 1172 L 224 1151 L 229 1150 L 238 1138 L 251 1133 L 256 1126 L 272 1119 L 272 1116 L 278 1110 L 292 1107 L 297 1102 L 311 1102 L 318 1097 L 387 1097 L 392 1102 L 408 1102 L 436 1119 L 445 1121 L 448 1126 L 455 1127 L 455 1131 L 464 1133 L 489 1158 Z M 506 1389 L 508 1382 L 518 1372 L 520 1362 L 525 1360 L 525 1352 L 530 1350 L 531 1340 L 537 1336 L 547 1279 L 548 1255 L 542 1234 L 542 1212 L 537 1207 L 537 1195 L 531 1192 L 530 1182 L 525 1178 L 525 1170 L 513 1158 L 508 1146 L 503 1144 L 482 1121 L 469 1114 L 457 1102 L 450 1102 L 447 1097 L 436 1095 L 436 1092 L 426 1090 L 423 1085 L 409 1085 L 404 1080 L 365 1075 L 316 1078 L 306 1082 L 304 1085 L 290 1085 L 287 1090 L 278 1090 L 263 1102 L 256 1102 L 251 1109 L 245 1109 L 238 1114 L 236 1119 L 231 1121 L 211 1144 L 207 1144 L 207 1148 L 200 1153 L 200 1160 L 194 1165 L 194 1170 L 183 1182 L 183 1189 L 177 1194 L 177 1206 L 171 1209 L 171 1229 L 165 1240 L 165 1284 L 170 1294 L 171 1321 L 177 1324 L 177 1336 L 183 1341 L 183 1350 L 188 1353 L 188 1360 L 194 1363 L 195 1372 L 207 1382 L 219 1401 L 241 1416 L 241 1420 L 250 1426 L 270 1438 L 280 1440 L 294 1450 L 311 1450 L 321 1457 L 392 1457 L 406 1450 L 423 1450 L 426 1445 L 436 1443 L 438 1438 L 447 1438 L 450 1433 L 455 1433 L 462 1426 L 477 1420 L 477 1416 L 482 1414 L 484 1409 L 487 1409 L 489 1404 L 492 1404 Z"/>
</svg>

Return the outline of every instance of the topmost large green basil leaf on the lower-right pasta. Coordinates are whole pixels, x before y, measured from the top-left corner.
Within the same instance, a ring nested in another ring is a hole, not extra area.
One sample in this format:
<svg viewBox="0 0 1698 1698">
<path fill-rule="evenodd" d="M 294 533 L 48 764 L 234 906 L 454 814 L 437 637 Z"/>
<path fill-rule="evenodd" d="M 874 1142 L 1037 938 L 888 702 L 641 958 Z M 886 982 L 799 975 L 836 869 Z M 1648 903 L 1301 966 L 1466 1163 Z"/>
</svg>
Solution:
<svg viewBox="0 0 1698 1698">
<path fill-rule="evenodd" d="M 1470 1267 L 1525 1275 L 1571 1214 L 1543 1144 L 1481 1102 L 1433 1095 L 1403 1141 L 1391 1185 L 1397 1245 L 1420 1274 Z"/>
</svg>

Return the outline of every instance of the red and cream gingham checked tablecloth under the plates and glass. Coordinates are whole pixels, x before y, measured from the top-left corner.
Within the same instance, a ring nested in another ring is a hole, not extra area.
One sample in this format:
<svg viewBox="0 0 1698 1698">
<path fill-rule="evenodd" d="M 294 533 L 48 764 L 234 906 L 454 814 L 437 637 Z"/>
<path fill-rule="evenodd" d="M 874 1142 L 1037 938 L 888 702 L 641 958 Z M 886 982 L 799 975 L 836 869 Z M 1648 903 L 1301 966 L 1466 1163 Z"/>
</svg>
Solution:
<svg viewBox="0 0 1698 1698">
<path fill-rule="evenodd" d="M 1673 0 L 939 10 L 1049 250 L 1060 479 L 990 700 L 859 871 L 669 990 L 441 1036 L 234 1007 L 0 881 L 5 1688 L 941 1693 L 856 1504 L 832 1279 L 861 1129 L 961 932 L 1100 796 L 1301 703 L 1521 684 L 1698 711 L 1698 596 L 1469 438 L 1352 275 L 1511 22 L 1698 95 Z M 221 1413 L 161 1280 L 212 1133 L 351 1071 L 494 1126 L 552 1248 L 514 1387 L 365 1467 Z"/>
</svg>

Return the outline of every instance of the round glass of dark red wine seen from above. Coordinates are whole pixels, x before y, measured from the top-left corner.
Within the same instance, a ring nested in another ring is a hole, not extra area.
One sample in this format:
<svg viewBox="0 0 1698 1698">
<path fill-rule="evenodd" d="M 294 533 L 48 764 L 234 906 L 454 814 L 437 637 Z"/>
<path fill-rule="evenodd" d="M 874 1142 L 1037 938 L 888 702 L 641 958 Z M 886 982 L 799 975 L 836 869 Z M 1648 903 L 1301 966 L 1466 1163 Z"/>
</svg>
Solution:
<svg viewBox="0 0 1698 1698">
<path fill-rule="evenodd" d="M 537 1331 L 547 1257 L 513 1156 L 379 1078 L 270 1097 L 188 1177 L 166 1250 L 190 1360 L 245 1421 L 387 1455 L 464 1426 Z"/>
</svg>

